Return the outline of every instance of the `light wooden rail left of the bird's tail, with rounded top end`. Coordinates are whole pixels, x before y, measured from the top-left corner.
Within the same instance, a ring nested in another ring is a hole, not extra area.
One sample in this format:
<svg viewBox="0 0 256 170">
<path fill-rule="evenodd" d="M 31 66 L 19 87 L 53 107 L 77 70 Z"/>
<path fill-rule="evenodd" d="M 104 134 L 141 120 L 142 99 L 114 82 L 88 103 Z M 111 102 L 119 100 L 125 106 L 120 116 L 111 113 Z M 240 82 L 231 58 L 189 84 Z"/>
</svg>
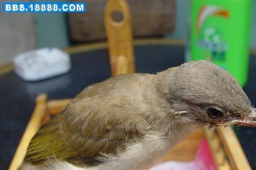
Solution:
<svg viewBox="0 0 256 170">
<path fill-rule="evenodd" d="M 22 135 L 22 139 L 19 142 L 19 145 L 16 149 L 14 154 L 13 160 L 11 161 L 9 170 L 16 170 L 22 164 L 24 156 L 27 152 L 27 147 L 38 129 L 41 126 L 43 117 L 46 113 L 46 106 L 47 106 L 47 95 L 41 94 L 36 97 L 36 107 L 30 121 L 27 124 L 27 128 Z"/>
</svg>

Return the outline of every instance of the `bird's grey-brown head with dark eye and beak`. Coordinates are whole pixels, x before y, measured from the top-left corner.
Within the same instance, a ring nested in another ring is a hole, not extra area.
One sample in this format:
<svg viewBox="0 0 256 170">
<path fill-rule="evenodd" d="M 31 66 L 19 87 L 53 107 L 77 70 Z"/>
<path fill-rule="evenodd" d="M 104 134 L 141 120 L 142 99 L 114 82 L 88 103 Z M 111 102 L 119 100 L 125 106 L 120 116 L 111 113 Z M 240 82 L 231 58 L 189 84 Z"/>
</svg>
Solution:
<svg viewBox="0 0 256 170">
<path fill-rule="evenodd" d="M 217 65 L 192 61 L 162 75 L 167 80 L 164 86 L 168 86 L 162 91 L 177 121 L 210 127 L 256 127 L 256 112 L 249 98 L 237 80 Z"/>
</svg>

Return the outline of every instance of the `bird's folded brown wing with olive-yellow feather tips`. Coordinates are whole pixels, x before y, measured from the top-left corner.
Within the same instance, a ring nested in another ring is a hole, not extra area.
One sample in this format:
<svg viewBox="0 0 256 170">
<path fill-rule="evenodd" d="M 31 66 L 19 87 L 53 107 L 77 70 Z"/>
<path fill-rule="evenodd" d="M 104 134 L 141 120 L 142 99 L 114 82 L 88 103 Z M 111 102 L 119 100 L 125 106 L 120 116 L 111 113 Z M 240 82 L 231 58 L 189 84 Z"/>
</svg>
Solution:
<svg viewBox="0 0 256 170">
<path fill-rule="evenodd" d="M 99 94 L 101 89 L 95 88 L 85 89 L 63 113 L 40 128 L 28 147 L 26 161 L 36 164 L 56 158 L 86 163 L 101 153 L 116 154 L 118 148 L 146 134 L 147 121 L 123 107 L 129 105 L 127 97 L 115 95 L 110 100 L 106 96 L 113 95 Z"/>
</svg>

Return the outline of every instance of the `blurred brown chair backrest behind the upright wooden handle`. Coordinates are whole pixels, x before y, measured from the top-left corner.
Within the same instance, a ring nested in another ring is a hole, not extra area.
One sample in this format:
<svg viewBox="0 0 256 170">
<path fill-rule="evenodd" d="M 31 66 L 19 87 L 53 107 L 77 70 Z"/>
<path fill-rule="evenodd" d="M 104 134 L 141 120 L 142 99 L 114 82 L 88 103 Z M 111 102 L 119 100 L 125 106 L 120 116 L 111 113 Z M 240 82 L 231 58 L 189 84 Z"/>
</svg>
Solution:
<svg viewBox="0 0 256 170">
<path fill-rule="evenodd" d="M 104 9 L 108 0 L 80 1 L 86 2 L 86 12 L 67 14 L 71 41 L 105 40 Z M 127 0 L 127 3 L 133 20 L 134 37 L 163 37 L 174 31 L 175 0 Z"/>
</svg>

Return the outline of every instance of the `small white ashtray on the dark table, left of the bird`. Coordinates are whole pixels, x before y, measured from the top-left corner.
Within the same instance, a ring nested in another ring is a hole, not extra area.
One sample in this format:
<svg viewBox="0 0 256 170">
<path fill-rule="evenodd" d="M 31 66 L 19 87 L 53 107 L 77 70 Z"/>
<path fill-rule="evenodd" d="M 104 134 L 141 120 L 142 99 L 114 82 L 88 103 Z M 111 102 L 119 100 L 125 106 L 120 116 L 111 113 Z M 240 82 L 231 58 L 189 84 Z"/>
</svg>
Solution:
<svg viewBox="0 0 256 170">
<path fill-rule="evenodd" d="M 13 60 L 15 73 L 27 81 L 37 81 L 65 74 L 71 69 L 69 54 L 57 48 L 25 52 Z"/>
</svg>

